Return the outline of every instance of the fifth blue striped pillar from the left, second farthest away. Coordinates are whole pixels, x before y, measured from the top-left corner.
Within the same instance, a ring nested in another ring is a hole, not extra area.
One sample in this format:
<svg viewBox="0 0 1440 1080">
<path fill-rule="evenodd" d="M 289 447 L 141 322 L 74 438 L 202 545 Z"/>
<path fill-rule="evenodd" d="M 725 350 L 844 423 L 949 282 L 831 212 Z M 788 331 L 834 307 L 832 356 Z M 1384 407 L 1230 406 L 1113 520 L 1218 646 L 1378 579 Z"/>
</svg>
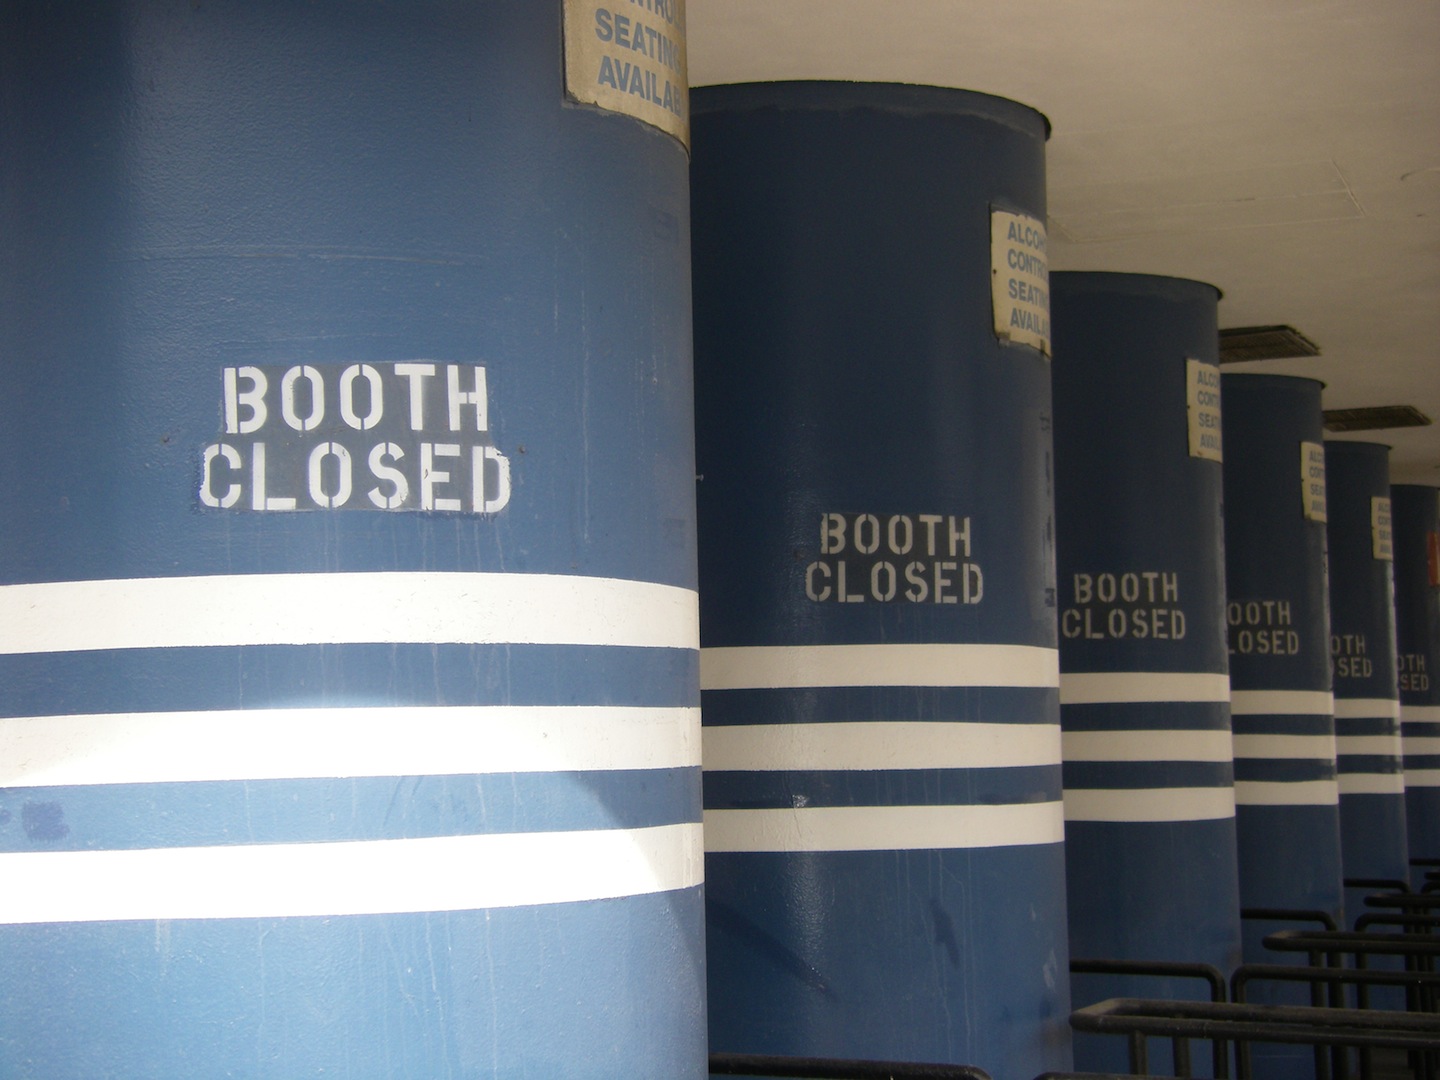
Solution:
<svg viewBox="0 0 1440 1080">
<path fill-rule="evenodd" d="M 1331 664 L 1346 878 L 1408 880 L 1395 674 L 1390 448 L 1325 444 Z M 1371 888 L 1348 888 L 1354 920 Z"/>
</svg>

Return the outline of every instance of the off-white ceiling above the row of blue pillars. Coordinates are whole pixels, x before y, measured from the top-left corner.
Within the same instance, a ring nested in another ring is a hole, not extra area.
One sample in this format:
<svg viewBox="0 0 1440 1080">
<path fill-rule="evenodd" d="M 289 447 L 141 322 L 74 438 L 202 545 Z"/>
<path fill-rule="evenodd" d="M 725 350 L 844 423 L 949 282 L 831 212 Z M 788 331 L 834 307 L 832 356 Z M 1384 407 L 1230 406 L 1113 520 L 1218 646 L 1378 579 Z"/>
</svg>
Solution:
<svg viewBox="0 0 1440 1080">
<path fill-rule="evenodd" d="M 1391 478 L 1440 484 L 1436 0 L 688 0 L 693 85 L 927 82 L 1032 105 L 1051 269 L 1198 278 L 1296 327 L 1325 408 L 1413 405 Z"/>
</svg>

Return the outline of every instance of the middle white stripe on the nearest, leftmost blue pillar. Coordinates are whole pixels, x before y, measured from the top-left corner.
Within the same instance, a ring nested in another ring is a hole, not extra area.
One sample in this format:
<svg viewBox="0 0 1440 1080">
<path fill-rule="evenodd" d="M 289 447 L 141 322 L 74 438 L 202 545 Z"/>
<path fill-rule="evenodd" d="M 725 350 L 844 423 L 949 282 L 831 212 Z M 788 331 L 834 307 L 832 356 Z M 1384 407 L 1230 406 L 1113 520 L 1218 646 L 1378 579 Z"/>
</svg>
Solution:
<svg viewBox="0 0 1440 1080">
<path fill-rule="evenodd" d="M 697 765 L 698 708 L 416 706 L 0 719 L 0 788 Z"/>
</svg>

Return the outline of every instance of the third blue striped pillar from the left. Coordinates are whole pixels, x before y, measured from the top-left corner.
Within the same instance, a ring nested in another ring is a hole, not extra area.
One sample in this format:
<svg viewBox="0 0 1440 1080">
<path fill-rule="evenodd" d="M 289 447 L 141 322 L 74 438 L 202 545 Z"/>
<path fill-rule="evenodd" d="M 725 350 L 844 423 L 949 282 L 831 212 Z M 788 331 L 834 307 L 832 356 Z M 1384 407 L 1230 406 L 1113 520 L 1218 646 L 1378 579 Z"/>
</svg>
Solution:
<svg viewBox="0 0 1440 1080">
<path fill-rule="evenodd" d="M 1056 274 L 1056 536 L 1070 950 L 1240 952 L 1212 285 Z M 1081 975 L 1077 1004 L 1194 996 Z M 1084 1068 L 1123 1044 L 1077 1040 Z"/>
</svg>

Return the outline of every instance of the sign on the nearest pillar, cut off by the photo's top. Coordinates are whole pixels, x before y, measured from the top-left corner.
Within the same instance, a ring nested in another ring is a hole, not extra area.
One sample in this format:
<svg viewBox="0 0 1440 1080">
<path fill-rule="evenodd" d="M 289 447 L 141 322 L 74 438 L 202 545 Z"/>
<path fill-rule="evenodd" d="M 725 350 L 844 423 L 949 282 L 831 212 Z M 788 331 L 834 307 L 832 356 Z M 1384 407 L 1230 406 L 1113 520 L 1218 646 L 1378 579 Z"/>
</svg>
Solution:
<svg viewBox="0 0 1440 1080">
<path fill-rule="evenodd" d="M 564 0 L 564 88 L 688 148 L 685 0 Z"/>
</svg>

